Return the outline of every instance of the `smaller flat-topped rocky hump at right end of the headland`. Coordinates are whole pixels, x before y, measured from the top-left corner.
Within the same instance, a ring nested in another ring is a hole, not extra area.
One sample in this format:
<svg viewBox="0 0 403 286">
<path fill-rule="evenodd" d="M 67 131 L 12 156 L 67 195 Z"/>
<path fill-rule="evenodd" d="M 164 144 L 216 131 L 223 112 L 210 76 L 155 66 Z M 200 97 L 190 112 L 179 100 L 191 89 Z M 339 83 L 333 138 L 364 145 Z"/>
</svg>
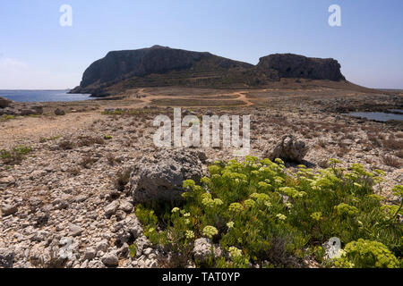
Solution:
<svg viewBox="0 0 403 286">
<path fill-rule="evenodd" d="M 346 80 L 341 74 L 339 62 L 334 59 L 275 54 L 262 57 L 257 66 L 265 70 L 278 71 L 280 78 Z"/>
</svg>

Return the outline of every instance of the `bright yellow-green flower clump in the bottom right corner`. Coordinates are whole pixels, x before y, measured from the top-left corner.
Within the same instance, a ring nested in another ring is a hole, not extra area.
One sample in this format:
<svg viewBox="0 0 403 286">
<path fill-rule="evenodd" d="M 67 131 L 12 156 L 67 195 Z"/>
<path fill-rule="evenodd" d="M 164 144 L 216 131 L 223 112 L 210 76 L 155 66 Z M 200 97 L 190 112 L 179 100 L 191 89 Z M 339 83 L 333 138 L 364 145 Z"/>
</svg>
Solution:
<svg viewBox="0 0 403 286">
<path fill-rule="evenodd" d="M 348 243 L 334 263 L 343 268 L 399 268 L 399 260 L 382 243 L 362 239 Z"/>
</svg>

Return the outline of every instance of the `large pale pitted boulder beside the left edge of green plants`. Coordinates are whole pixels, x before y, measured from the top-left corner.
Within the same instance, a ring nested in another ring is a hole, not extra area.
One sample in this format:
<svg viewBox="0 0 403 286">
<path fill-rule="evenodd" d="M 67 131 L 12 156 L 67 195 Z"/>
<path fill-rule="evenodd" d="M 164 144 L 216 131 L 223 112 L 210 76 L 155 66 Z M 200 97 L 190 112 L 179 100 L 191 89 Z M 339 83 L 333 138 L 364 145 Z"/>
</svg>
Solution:
<svg viewBox="0 0 403 286">
<path fill-rule="evenodd" d="M 202 152 L 162 150 L 143 158 L 133 168 L 130 191 L 137 203 L 174 202 L 181 199 L 185 180 L 200 181 Z"/>
</svg>

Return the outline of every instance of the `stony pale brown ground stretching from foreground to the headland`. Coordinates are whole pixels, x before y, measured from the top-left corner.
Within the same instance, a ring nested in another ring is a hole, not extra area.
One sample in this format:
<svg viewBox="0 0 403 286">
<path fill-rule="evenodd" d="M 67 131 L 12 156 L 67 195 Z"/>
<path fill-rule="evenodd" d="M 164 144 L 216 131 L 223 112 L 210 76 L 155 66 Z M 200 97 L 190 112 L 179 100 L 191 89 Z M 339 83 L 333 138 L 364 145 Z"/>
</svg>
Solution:
<svg viewBox="0 0 403 286">
<path fill-rule="evenodd" d="M 44 104 L 40 116 L 0 122 L 0 149 L 31 147 L 24 160 L 14 162 L 18 164 L 0 159 L 0 267 L 163 266 L 161 257 L 166 254 L 150 245 L 133 214 L 130 183 L 134 166 L 139 168 L 142 159 L 159 151 L 152 141 L 157 130 L 152 126 L 155 116 L 173 117 L 172 108 L 159 105 L 159 100 L 167 99 L 161 93 L 161 89 L 150 88 L 133 90 L 114 101 Z M 371 102 L 401 108 L 401 95 L 330 89 L 213 95 L 214 100 L 232 95 L 244 104 L 193 106 L 193 97 L 183 97 L 183 113 L 250 114 L 251 155 L 268 156 L 291 134 L 304 142 L 303 163 L 314 169 L 338 158 L 345 166 L 360 163 L 369 170 L 383 170 L 386 181 L 377 191 L 396 202 L 390 189 L 403 182 L 401 122 L 355 119 L 330 107 L 351 100 L 364 102 L 365 108 Z M 64 115 L 57 116 L 56 108 Z M 102 113 L 116 108 L 130 112 Z M 204 172 L 215 160 L 233 158 L 230 148 L 200 151 L 206 155 Z M 296 164 L 288 167 L 290 172 L 296 170 Z M 206 248 L 204 242 L 198 241 L 195 256 Z M 133 243 L 137 252 L 131 257 L 129 245 Z"/>
</svg>

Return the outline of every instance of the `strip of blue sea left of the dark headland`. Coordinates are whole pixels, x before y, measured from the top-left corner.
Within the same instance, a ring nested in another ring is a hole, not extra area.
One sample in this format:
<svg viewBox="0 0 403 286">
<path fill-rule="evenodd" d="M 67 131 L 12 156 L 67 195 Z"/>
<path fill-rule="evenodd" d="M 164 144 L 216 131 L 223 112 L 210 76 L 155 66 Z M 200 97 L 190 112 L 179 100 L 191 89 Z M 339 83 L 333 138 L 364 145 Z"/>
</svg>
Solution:
<svg viewBox="0 0 403 286">
<path fill-rule="evenodd" d="M 17 102 L 55 102 L 80 101 L 93 99 L 90 95 L 68 94 L 64 90 L 0 90 L 0 97 Z"/>
</svg>

